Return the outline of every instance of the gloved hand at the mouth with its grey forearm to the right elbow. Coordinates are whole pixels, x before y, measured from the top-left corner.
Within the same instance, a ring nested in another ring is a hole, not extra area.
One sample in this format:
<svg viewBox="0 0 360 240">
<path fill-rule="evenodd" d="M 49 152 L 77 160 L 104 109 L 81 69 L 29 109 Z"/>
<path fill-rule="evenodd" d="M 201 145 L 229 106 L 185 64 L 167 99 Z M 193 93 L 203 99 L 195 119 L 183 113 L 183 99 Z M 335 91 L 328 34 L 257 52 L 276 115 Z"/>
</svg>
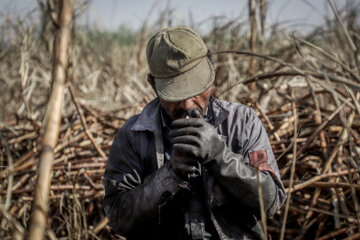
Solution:
<svg viewBox="0 0 360 240">
<path fill-rule="evenodd" d="M 260 215 L 259 183 L 268 214 L 274 214 L 281 206 L 277 199 L 278 187 L 271 174 L 260 172 L 258 177 L 256 168 L 246 164 L 241 154 L 232 152 L 212 125 L 201 118 L 185 118 L 173 121 L 172 126 L 175 129 L 169 132 L 169 136 L 173 151 L 184 153 L 205 164 L 204 167 L 216 177 L 220 185 L 244 206 L 251 207 Z"/>
</svg>

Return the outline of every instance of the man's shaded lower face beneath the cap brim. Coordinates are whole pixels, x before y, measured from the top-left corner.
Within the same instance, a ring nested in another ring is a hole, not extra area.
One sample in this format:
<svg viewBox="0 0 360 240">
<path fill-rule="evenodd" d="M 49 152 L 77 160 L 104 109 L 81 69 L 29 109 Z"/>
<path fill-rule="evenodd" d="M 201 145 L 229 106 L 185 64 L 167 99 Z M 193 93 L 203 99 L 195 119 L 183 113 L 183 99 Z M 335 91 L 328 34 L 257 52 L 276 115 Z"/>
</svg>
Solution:
<svg viewBox="0 0 360 240">
<path fill-rule="evenodd" d="M 178 102 L 168 102 L 161 98 L 159 99 L 161 106 L 165 110 L 167 115 L 169 115 L 172 120 L 175 120 L 179 118 L 184 118 L 187 110 L 189 109 L 197 109 L 201 113 L 201 115 L 204 116 L 206 109 L 209 105 L 211 92 L 212 87 L 208 88 L 203 93 L 200 93 L 195 97 Z"/>
</svg>

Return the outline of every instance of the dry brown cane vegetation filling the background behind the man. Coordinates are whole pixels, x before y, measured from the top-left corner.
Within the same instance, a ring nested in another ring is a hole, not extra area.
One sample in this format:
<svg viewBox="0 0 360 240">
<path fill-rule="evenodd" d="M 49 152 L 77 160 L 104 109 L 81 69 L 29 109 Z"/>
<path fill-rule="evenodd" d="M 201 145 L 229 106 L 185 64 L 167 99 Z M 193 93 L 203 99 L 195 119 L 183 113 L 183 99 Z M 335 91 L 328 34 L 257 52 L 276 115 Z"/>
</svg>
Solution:
<svg viewBox="0 0 360 240">
<path fill-rule="evenodd" d="M 74 16 L 84 7 L 77 3 Z M 3 15 L 0 22 L 2 239 L 22 239 L 29 225 L 51 87 L 49 8 L 40 4 L 40 23 L 31 14 Z M 218 69 L 215 96 L 252 106 L 278 159 L 290 197 L 267 230 L 273 239 L 281 232 L 284 239 L 359 239 L 360 4 L 349 1 L 338 9 L 341 17 L 331 14 L 306 35 L 261 24 L 264 11 L 250 14 L 250 27 L 210 19 L 203 37 Z M 167 7 L 156 25 L 138 32 L 101 32 L 74 20 L 46 238 L 118 237 L 102 210 L 104 156 L 116 130 L 154 98 L 146 41 L 171 24 L 171 13 Z"/>
</svg>

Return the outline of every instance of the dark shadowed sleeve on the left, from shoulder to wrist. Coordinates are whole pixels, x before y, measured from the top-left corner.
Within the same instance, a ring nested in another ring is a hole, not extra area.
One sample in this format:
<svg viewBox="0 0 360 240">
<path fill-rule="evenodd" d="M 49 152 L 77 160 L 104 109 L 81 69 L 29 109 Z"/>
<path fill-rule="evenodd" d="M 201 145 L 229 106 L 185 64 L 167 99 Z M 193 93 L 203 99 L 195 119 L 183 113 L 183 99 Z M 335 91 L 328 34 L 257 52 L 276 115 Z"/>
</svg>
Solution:
<svg viewBox="0 0 360 240">
<path fill-rule="evenodd" d="M 123 236 L 154 222 L 159 207 L 182 188 L 168 164 L 143 178 L 141 159 L 134 144 L 133 133 L 127 126 L 120 129 L 104 175 L 104 211 L 111 228 Z"/>
</svg>

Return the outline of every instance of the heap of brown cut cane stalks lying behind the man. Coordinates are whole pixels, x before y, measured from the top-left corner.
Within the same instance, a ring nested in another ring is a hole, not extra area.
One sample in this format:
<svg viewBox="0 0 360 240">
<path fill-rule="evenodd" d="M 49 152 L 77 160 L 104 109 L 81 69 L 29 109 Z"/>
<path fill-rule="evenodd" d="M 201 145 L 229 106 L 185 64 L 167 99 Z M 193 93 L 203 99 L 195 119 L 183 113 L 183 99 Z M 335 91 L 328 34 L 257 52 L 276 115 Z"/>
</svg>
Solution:
<svg viewBox="0 0 360 240">
<path fill-rule="evenodd" d="M 330 110 L 329 105 L 320 109 L 322 122 L 317 123 L 311 100 L 326 93 L 314 90 L 301 98 L 291 94 L 293 90 L 284 94 L 284 105 L 266 113 L 257 104 L 249 104 L 267 128 L 283 183 L 291 192 L 286 239 L 308 239 L 314 233 L 323 240 L 357 239 L 360 112 L 358 103 L 354 105 L 356 96 L 347 103 L 357 109 L 343 103 Z M 358 101 L 359 94 L 357 97 Z M 135 114 L 144 104 L 106 113 L 73 100 L 77 114 L 63 119 L 55 148 L 46 235 L 49 239 L 115 238 L 102 209 L 107 160 L 102 154 L 108 154 L 114 134 L 126 121 L 118 115 L 123 111 Z M 3 239 L 21 238 L 33 201 L 41 127 L 35 121 L 16 118 L 3 124 L 1 165 L 7 167 L 0 171 L 1 234 L 8 236 Z M 285 207 L 267 222 L 274 239 L 281 232 Z"/>
</svg>

